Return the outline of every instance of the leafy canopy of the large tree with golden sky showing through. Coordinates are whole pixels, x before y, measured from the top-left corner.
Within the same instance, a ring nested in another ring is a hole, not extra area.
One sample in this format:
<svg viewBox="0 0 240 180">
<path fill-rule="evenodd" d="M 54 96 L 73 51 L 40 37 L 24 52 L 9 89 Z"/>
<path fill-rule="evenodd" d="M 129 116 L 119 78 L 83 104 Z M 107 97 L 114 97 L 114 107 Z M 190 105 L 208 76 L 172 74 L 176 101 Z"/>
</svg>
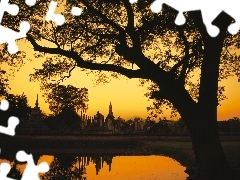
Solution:
<svg viewBox="0 0 240 180">
<path fill-rule="evenodd" d="M 27 19 L 32 27 L 27 39 L 33 45 L 36 57 L 43 57 L 43 53 L 53 54 L 46 56 L 43 68 L 36 69 L 31 75 L 32 80 L 42 82 L 43 89 L 70 77 L 73 69 L 80 67 L 96 73 L 98 81 L 102 82 L 108 82 L 109 77 L 119 77 L 119 74 L 141 78 L 142 84 L 150 84 L 149 93 L 146 93 L 148 97 L 155 97 L 154 93 L 160 89 L 164 92 L 162 81 L 167 79 L 184 86 L 192 99 L 198 102 L 205 46 L 200 32 L 204 27 L 195 21 L 201 22 L 199 12 L 186 13 L 187 23 L 176 26 L 177 12 L 164 6 L 162 13 L 154 14 L 149 8 L 151 1 L 139 0 L 131 5 L 128 0 L 69 0 L 62 2 L 65 24 L 56 26 L 54 22 L 43 19 L 48 1 L 39 1 L 34 7 L 20 4 L 24 11 L 14 19 L 5 16 L 4 23 L 16 28 L 20 20 Z M 81 16 L 70 14 L 72 6 L 83 9 Z M 238 37 L 226 35 L 219 80 L 233 75 L 239 77 Z M 51 44 L 43 46 L 38 43 L 43 40 Z M 103 73 L 103 70 L 112 73 Z M 153 72 L 155 77 L 150 75 Z M 225 99 L 224 87 L 218 89 L 218 100 Z M 163 113 L 159 107 L 167 105 L 176 115 L 176 107 L 171 100 L 165 96 L 158 97 L 161 98 L 156 98 L 148 110 Z M 154 112 L 150 114 L 156 116 Z"/>
</svg>

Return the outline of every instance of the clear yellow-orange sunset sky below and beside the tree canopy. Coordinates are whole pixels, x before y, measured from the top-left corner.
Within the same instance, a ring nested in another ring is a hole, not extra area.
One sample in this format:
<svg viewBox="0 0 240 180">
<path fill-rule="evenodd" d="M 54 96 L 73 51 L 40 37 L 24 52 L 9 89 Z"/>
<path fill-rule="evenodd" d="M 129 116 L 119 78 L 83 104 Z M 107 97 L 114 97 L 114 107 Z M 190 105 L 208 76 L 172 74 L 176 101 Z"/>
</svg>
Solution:
<svg viewBox="0 0 240 180">
<path fill-rule="evenodd" d="M 40 82 L 29 82 L 29 74 L 34 72 L 33 68 L 40 68 L 44 59 L 34 59 L 31 44 L 26 40 L 18 42 L 20 50 L 27 52 L 27 57 L 32 61 L 25 60 L 25 65 L 20 71 L 15 72 L 15 76 L 9 81 L 11 87 L 10 92 L 14 94 L 27 95 L 30 106 L 34 106 L 36 95 L 39 94 L 39 104 L 41 109 L 49 114 L 48 104 L 45 103 L 42 93 L 40 92 Z M 76 68 L 72 72 L 72 77 L 66 79 L 63 84 L 72 84 L 75 87 L 86 87 L 89 90 L 89 109 L 87 115 L 93 116 L 100 111 L 105 117 L 108 114 L 108 106 L 110 101 L 113 105 L 113 113 L 115 117 L 127 119 L 133 116 L 147 117 L 146 107 L 152 104 L 144 96 L 147 92 L 147 86 L 140 87 L 138 79 L 127 79 L 122 76 L 120 79 L 112 79 L 110 83 L 94 85 L 94 75 L 86 75 L 86 72 Z M 240 117 L 240 83 L 237 77 L 231 77 L 224 80 L 220 85 L 225 85 L 225 94 L 228 99 L 222 101 L 222 105 L 218 107 L 218 120 L 227 120 L 232 117 Z M 167 118 L 169 112 L 164 114 Z"/>
</svg>

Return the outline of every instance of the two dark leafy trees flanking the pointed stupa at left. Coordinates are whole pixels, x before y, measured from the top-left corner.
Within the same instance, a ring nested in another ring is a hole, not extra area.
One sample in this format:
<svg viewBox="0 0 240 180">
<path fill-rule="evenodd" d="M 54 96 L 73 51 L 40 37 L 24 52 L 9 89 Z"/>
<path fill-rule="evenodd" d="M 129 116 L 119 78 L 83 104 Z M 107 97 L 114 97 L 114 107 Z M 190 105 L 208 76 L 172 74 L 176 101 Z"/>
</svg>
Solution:
<svg viewBox="0 0 240 180">
<path fill-rule="evenodd" d="M 49 129 L 55 132 L 72 131 L 80 128 L 80 117 L 78 111 L 86 111 L 88 108 L 88 89 L 76 88 L 72 85 L 57 85 L 45 93 L 46 102 L 53 114 L 46 115 L 43 112 L 43 120 Z M 2 126 L 8 125 L 8 118 L 16 116 L 20 122 L 29 119 L 31 107 L 27 96 L 10 94 L 7 91 L 0 93 L 0 100 L 6 99 L 9 102 L 7 111 L 0 111 Z M 18 127 L 17 127 L 18 130 Z"/>
</svg>

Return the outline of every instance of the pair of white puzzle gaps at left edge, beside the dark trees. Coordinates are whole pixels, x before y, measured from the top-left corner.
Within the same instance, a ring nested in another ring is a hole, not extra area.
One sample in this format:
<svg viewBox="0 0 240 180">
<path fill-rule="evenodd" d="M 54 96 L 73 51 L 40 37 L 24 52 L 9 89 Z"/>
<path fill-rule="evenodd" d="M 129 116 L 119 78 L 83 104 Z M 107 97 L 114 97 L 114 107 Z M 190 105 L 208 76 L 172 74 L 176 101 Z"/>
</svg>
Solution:
<svg viewBox="0 0 240 180">
<path fill-rule="evenodd" d="M 0 105 L 0 110 L 6 111 L 8 108 L 9 108 L 9 102 L 7 100 L 2 100 Z M 11 116 L 8 119 L 8 127 L 0 126 L 0 133 L 14 136 L 15 129 L 18 124 L 19 124 L 19 119 L 15 116 Z"/>
</svg>

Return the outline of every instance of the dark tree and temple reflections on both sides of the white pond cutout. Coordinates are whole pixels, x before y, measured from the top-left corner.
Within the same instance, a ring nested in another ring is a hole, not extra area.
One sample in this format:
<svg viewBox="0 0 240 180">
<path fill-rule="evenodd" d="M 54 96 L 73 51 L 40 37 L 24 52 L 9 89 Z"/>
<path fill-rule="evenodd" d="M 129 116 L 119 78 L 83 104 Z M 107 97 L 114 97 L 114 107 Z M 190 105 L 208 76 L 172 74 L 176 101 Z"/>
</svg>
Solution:
<svg viewBox="0 0 240 180">
<path fill-rule="evenodd" d="M 4 157 L 4 158 L 3 158 Z M 33 154 L 34 162 L 37 163 L 41 155 Z M 13 179 L 21 179 L 23 169 L 17 168 L 19 163 L 14 156 L 2 156 L 3 159 L 8 159 L 11 162 L 12 168 L 8 177 Z M 93 163 L 95 165 L 96 174 L 102 169 L 106 163 L 111 171 L 113 156 L 110 155 L 93 155 L 93 156 L 76 156 L 76 155 L 54 155 L 54 159 L 50 164 L 50 170 L 47 173 L 40 175 L 42 180 L 85 180 L 84 175 L 86 167 Z"/>
</svg>

